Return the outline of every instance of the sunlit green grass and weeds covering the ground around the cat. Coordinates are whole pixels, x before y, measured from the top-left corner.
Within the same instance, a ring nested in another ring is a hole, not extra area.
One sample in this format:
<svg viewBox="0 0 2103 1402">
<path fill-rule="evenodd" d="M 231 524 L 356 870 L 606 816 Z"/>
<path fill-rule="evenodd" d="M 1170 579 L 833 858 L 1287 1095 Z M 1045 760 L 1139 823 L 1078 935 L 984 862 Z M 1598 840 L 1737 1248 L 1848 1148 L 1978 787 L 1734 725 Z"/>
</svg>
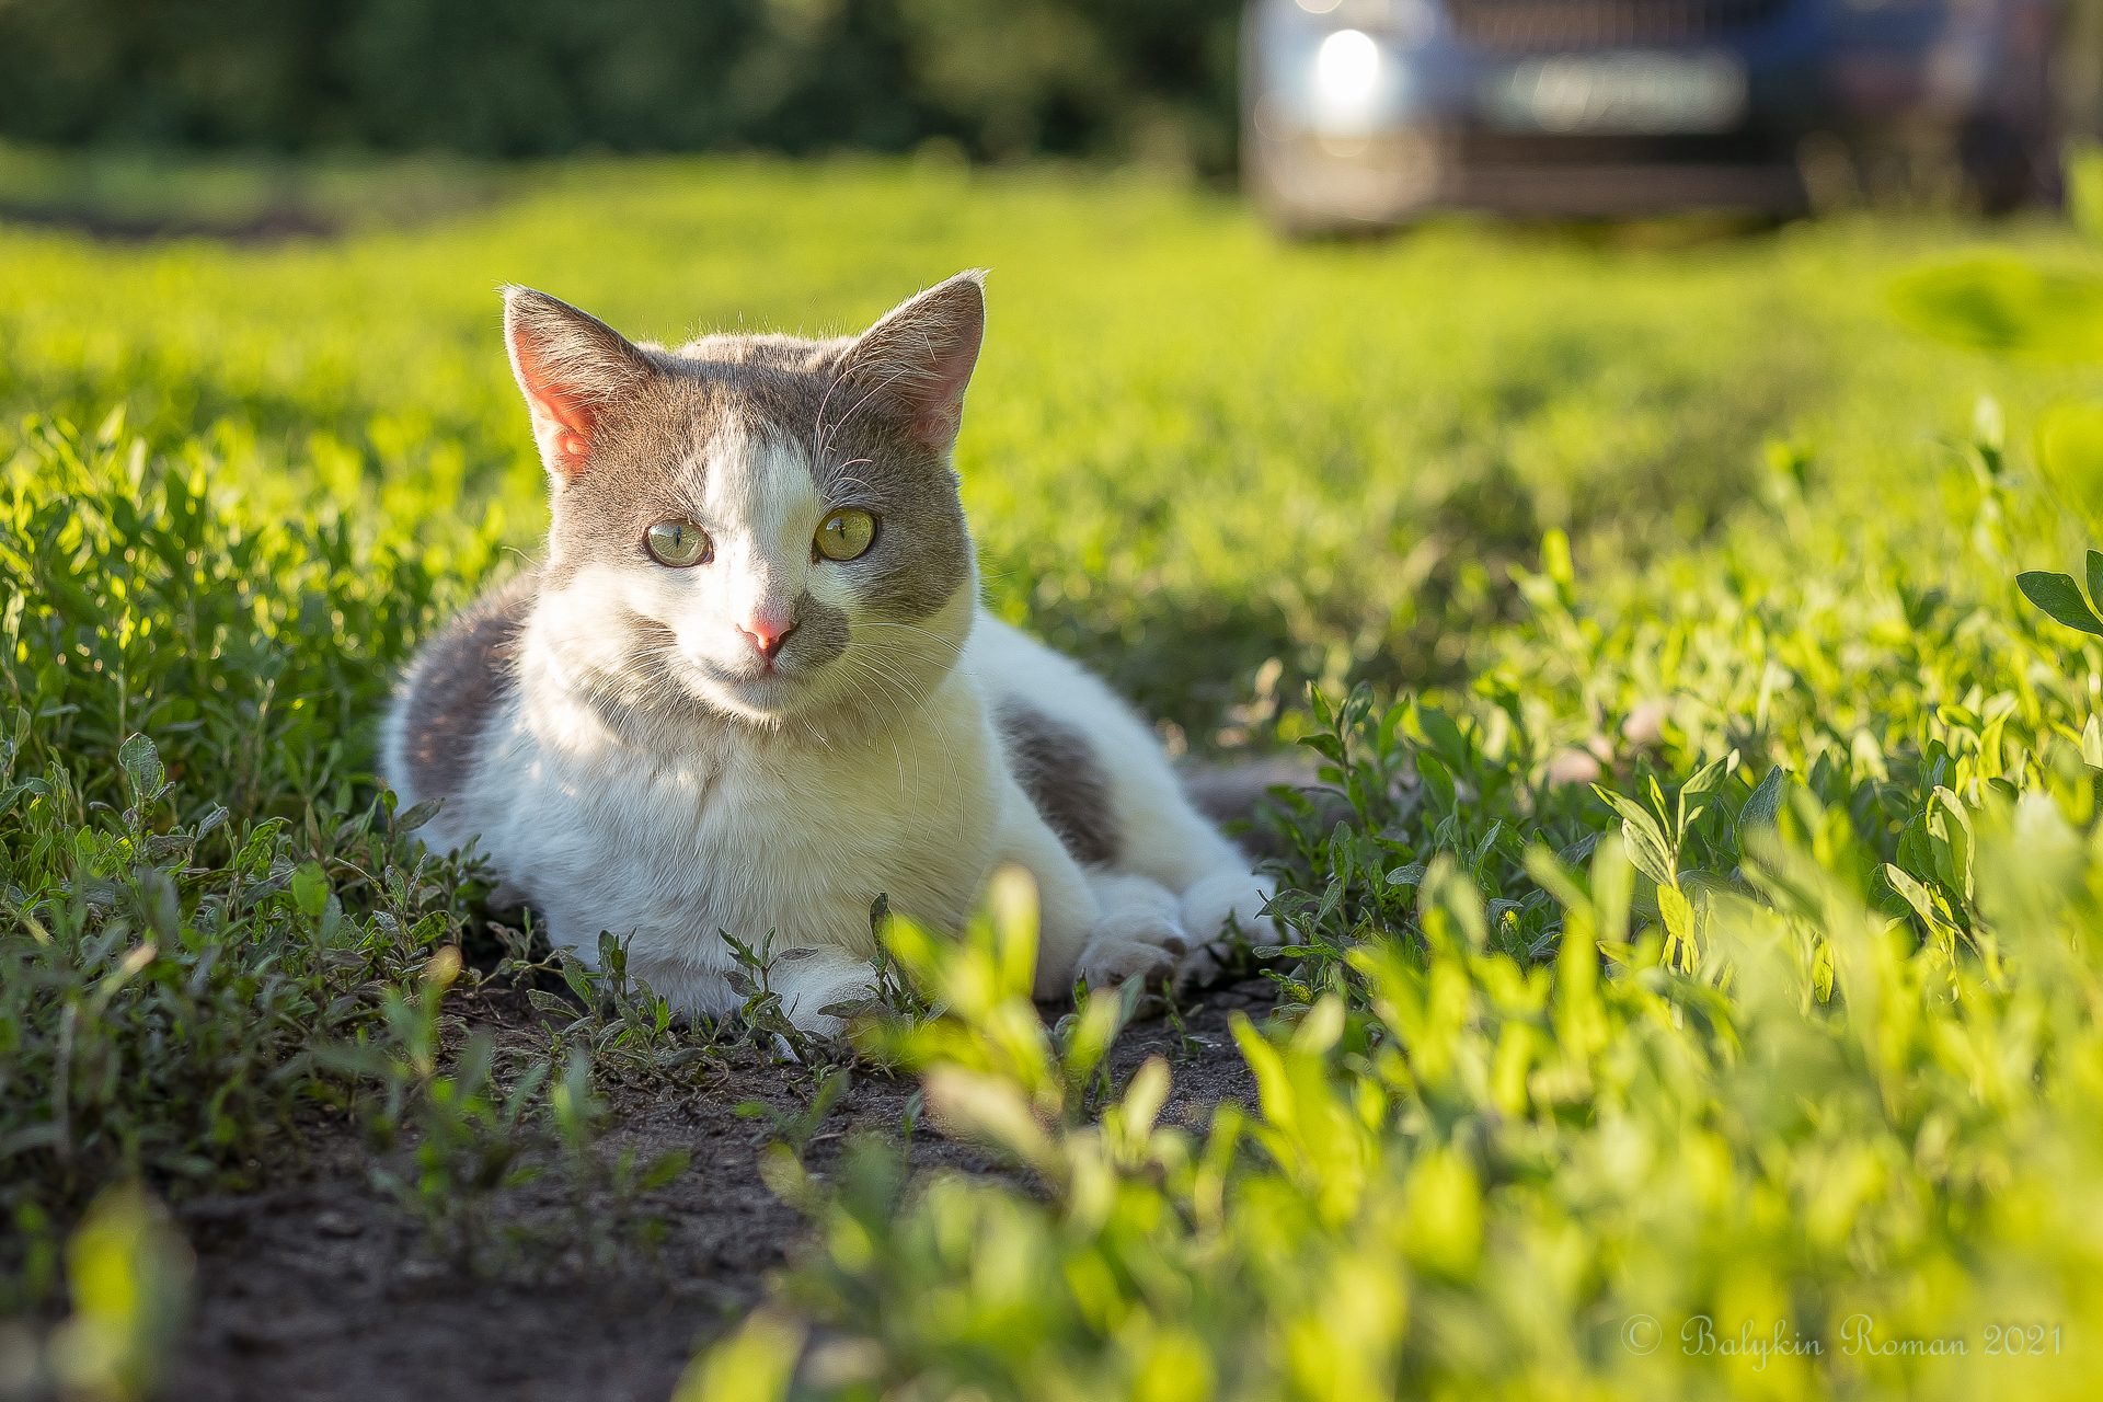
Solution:
<svg viewBox="0 0 2103 1402">
<path fill-rule="evenodd" d="M 21 1299 L 105 1183 L 252 1183 L 324 1101 L 418 1143 L 400 1198 L 467 1265 L 488 1225 L 444 1202 L 477 1183 L 648 1179 L 593 1167 L 591 1074 L 707 1036 L 587 984 L 536 1057 L 435 1057 L 442 952 L 505 935 L 372 780 L 391 671 L 543 519 L 492 286 L 677 338 L 843 330 L 991 265 L 959 467 L 995 607 L 1171 744 L 1312 746 L 1350 816 L 1274 818 L 1255 1116 L 1157 1125 L 1165 1064 L 1104 1093 L 1129 1007 L 1039 1024 L 1026 902 L 961 946 L 892 925 L 948 1017 L 860 1055 L 1037 1192 L 877 1139 L 826 1181 L 782 1120 L 812 1240 L 690 1391 L 2078 1396 L 2103 650 L 2015 576 L 2080 557 L 2082 483 L 2029 435 L 2099 376 L 1891 315 L 1979 229 L 1281 248 L 1058 172 L 511 179 L 341 242 L 0 229 Z M 1861 1318 L 1901 1347 L 1851 1352 Z"/>
</svg>

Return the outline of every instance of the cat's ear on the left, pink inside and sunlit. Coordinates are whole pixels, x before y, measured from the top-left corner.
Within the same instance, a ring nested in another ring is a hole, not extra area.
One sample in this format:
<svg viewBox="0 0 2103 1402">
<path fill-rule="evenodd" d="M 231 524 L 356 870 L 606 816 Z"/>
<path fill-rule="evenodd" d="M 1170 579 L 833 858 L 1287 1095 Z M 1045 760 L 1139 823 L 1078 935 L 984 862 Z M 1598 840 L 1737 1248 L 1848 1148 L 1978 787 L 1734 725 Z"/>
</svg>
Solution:
<svg viewBox="0 0 2103 1402">
<path fill-rule="evenodd" d="M 505 288 L 505 347 L 532 412 L 540 462 L 562 483 L 591 467 L 591 439 L 606 410 L 656 374 L 612 326 L 532 288 Z"/>
</svg>

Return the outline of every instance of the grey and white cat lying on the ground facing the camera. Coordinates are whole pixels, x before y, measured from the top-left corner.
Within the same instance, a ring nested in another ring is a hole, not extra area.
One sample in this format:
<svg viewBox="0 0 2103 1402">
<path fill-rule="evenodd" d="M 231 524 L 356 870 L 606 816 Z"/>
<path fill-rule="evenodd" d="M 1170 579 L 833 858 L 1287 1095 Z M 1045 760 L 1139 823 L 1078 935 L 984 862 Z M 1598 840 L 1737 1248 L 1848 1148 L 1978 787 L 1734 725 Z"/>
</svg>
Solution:
<svg viewBox="0 0 2103 1402">
<path fill-rule="evenodd" d="M 1070 658 L 980 607 L 951 450 L 984 275 L 864 334 L 631 343 L 505 288 L 547 467 L 540 563 L 423 647 L 385 725 L 425 839 L 479 851 L 549 940 L 599 931 L 683 1013 L 721 1015 L 730 946 L 791 1022 L 869 994 L 871 904 L 959 929 L 988 872 L 1041 902 L 1035 994 L 1167 980 L 1228 923 L 1274 942 L 1268 885 L 1152 731 Z"/>
</svg>

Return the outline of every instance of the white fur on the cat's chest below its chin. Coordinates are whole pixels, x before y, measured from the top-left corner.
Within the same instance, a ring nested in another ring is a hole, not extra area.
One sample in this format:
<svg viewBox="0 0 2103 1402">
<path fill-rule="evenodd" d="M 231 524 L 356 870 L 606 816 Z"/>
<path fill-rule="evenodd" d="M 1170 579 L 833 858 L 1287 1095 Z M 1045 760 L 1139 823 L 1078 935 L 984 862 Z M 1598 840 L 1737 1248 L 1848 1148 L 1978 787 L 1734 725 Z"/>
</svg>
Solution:
<svg viewBox="0 0 2103 1402">
<path fill-rule="evenodd" d="M 551 940 L 591 958 L 601 929 L 660 992 L 717 1011 L 719 931 L 774 948 L 873 952 L 869 906 L 959 925 L 993 860 L 997 740 L 978 687 L 850 734 L 728 717 L 616 734 L 551 675 L 528 626 L 519 685 L 442 834 L 482 834 Z"/>
</svg>

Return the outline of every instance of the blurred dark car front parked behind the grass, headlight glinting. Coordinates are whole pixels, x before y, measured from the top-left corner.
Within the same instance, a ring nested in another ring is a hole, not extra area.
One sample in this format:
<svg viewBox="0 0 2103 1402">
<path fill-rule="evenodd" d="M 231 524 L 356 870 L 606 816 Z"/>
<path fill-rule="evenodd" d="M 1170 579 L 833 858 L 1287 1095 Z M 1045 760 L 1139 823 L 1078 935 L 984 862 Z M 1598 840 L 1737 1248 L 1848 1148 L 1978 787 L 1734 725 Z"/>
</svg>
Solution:
<svg viewBox="0 0 2103 1402">
<path fill-rule="evenodd" d="M 1432 208 L 1790 214 L 1838 158 L 2046 189 L 2050 0 L 1251 0 L 1247 185 L 1287 231 Z"/>
</svg>

